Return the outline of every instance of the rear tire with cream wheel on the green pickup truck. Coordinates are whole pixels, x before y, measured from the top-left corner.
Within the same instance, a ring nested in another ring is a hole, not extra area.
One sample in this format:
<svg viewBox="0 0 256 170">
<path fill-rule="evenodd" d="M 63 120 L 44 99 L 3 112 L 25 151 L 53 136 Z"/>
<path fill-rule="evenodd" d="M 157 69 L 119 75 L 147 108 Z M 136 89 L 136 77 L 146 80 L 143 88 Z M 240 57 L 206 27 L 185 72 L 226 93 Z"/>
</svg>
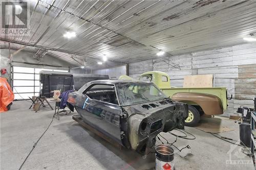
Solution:
<svg viewBox="0 0 256 170">
<path fill-rule="evenodd" d="M 188 105 L 188 117 L 185 119 L 185 126 L 194 127 L 197 126 L 200 120 L 199 111 L 191 105 Z"/>
</svg>

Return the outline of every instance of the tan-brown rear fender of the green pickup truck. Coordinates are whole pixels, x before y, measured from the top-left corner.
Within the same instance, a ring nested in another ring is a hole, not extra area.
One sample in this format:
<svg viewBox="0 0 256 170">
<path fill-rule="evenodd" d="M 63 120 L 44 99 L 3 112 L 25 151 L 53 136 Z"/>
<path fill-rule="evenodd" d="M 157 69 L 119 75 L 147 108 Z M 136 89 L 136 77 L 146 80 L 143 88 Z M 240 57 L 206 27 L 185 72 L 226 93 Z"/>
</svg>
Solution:
<svg viewBox="0 0 256 170">
<path fill-rule="evenodd" d="M 199 105 L 207 115 L 223 114 L 222 103 L 216 95 L 181 92 L 175 93 L 172 99 L 189 105 Z"/>
</svg>

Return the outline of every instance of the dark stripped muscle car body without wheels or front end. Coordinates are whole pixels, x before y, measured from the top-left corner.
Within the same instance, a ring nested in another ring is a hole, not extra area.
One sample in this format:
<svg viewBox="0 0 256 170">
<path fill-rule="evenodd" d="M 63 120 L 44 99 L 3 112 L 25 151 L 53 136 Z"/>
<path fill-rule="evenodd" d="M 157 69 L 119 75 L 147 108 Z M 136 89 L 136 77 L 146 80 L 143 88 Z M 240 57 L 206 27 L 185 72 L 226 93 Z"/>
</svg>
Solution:
<svg viewBox="0 0 256 170">
<path fill-rule="evenodd" d="M 90 126 L 140 154 L 154 147 L 160 132 L 183 129 L 188 116 L 186 104 L 142 81 L 89 82 L 69 93 L 68 106 Z"/>
</svg>

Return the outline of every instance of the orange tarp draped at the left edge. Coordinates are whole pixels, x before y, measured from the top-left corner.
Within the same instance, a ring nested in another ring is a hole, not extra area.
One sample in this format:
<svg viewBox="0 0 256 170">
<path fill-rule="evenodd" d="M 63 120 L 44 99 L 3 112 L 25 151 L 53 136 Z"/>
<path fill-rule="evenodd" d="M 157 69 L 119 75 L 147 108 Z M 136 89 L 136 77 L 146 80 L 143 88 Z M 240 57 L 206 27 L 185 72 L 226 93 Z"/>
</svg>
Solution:
<svg viewBox="0 0 256 170">
<path fill-rule="evenodd" d="M 0 112 L 8 111 L 7 106 L 14 100 L 14 94 L 5 78 L 0 77 Z"/>
</svg>

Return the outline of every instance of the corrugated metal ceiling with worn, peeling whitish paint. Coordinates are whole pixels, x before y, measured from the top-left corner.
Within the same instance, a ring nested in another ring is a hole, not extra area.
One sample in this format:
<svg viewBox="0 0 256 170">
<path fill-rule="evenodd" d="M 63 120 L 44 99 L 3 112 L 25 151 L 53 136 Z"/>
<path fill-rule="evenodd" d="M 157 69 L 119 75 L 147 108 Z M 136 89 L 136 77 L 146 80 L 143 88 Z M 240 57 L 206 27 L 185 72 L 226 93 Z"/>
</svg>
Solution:
<svg viewBox="0 0 256 170">
<path fill-rule="evenodd" d="M 256 32 L 256 1 L 31 0 L 30 5 L 30 35 L 1 40 L 47 48 L 48 55 L 77 65 L 75 60 L 86 61 L 92 69 L 153 59 L 160 49 L 171 56 L 245 43 L 242 38 Z M 63 37 L 67 31 L 77 37 Z M 103 55 L 109 61 L 99 66 Z"/>
</svg>

